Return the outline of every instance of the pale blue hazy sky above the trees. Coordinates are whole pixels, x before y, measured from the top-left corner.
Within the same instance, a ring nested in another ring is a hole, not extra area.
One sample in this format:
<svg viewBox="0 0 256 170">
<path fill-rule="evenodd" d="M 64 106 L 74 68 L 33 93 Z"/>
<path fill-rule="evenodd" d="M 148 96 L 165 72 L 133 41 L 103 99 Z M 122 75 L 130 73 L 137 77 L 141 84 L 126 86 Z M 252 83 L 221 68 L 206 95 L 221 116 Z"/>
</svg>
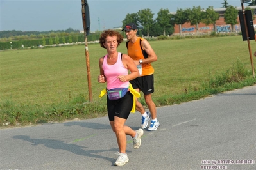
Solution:
<svg viewBox="0 0 256 170">
<path fill-rule="evenodd" d="M 90 31 L 121 27 L 128 13 L 149 8 L 153 19 L 162 8 L 176 12 L 178 8 L 221 8 L 224 0 L 87 0 Z M 241 0 L 228 0 L 241 7 Z M 244 4 L 246 7 L 247 4 Z M 68 28 L 83 30 L 81 0 L 0 0 L 0 31 L 56 31 Z"/>
</svg>

